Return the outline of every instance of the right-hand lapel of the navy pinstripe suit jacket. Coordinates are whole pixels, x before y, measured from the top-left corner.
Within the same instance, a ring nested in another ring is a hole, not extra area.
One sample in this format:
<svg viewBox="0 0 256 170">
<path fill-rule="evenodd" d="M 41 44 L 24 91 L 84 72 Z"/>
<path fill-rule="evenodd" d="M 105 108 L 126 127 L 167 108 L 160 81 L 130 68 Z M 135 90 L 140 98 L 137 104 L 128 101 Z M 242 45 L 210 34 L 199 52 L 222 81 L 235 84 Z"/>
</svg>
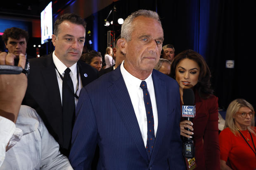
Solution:
<svg viewBox="0 0 256 170">
<path fill-rule="evenodd" d="M 154 149 L 152 151 L 152 155 L 150 158 L 150 162 L 154 160 L 156 157 L 159 148 L 161 147 L 162 140 L 164 138 L 164 130 L 166 127 L 167 120 L 167 96 L 166 96 L 166 84 L 163 80 L 161 80 L 156 74 L 155 70 L 152 72 L 152 79 L 154 83 L 154 91 L 156 96 L 156 107 L 158 114 L 158 126 L 156 132 L 156 140 L 154 144 Z"/>
</svg>

